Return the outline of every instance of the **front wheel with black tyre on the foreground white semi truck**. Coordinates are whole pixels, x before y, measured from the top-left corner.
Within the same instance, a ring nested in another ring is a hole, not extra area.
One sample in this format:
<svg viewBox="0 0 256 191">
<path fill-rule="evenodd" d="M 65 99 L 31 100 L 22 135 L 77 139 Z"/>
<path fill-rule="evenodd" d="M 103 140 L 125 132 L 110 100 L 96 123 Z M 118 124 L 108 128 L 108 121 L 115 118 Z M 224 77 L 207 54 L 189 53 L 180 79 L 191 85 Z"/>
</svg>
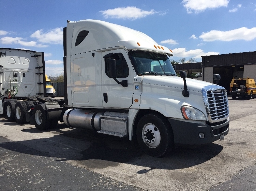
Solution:
<svg viewBox="0 0 256 191">
<path fill-rule="evenodd" d="M 162 157 L 174 148 L 174 138 L 168 120 L 158 114 L 141 117 L 137 125 L 137 139 L 148 155 Z"/>
</svg>

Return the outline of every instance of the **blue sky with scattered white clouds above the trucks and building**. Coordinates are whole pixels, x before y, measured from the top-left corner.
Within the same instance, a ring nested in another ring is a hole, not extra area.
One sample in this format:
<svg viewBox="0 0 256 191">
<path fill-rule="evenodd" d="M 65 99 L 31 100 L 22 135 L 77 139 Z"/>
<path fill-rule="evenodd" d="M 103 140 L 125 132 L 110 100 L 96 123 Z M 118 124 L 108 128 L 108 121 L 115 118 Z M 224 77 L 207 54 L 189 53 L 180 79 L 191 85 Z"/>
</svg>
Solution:
<svg viewBox="0 0 256 191">
<path fill-rule="evenodd" d="M 46 74 L 63 72 L 66 21 L 103 20 L 140 31 L 170 59 L 256 51 L 256 0 L 1 0 L 0 47 L 45 53 Z"/>
</svg>

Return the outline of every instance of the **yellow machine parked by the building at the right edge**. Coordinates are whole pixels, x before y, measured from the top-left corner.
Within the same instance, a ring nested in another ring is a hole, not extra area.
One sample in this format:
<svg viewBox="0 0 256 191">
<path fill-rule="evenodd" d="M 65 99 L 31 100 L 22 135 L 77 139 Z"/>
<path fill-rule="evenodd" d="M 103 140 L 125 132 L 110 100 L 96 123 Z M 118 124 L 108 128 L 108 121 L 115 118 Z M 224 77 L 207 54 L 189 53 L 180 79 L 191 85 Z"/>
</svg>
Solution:
<svg viewBox="0 0 256 191">
<path fill-rule="evenodd" d="M 256 85 L 255 81 L 252 78 L 233 78 L 230 83 L 230 95 L 232 99 L 236 99 L 236 97 L 249 97 L 252 99 L 256 96 Z"/>
</svg>

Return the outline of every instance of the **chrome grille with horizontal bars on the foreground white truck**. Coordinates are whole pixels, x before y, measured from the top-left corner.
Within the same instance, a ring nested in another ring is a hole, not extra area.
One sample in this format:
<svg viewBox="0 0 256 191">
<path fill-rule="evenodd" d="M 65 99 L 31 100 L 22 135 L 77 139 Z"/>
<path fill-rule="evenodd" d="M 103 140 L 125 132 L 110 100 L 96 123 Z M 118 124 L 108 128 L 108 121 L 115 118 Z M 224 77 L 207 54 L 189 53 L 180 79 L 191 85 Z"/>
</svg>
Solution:
<svg viewBox="0 0 256 191">
<path fill-rule="evenodd" d="M 228 98 L 225 89 L 207 91 L 208 112 L 212 120 L 228 116 Z"/>
</svg>

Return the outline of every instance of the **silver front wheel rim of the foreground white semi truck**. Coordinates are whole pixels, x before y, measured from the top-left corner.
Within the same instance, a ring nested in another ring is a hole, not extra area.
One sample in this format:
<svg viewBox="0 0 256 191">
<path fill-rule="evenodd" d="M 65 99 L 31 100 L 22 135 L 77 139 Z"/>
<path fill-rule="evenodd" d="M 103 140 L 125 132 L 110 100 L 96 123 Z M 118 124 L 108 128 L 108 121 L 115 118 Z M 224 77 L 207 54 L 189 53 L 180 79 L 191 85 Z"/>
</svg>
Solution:
<svg viewBox="0 0 256 191">
<path fill-rule="evenodd" d="M 161 141 L 159 129 L 152 123 L 147 123 L 142 129 L 142 139 L 149 148 L 156 148 Z"/>
</svg>

